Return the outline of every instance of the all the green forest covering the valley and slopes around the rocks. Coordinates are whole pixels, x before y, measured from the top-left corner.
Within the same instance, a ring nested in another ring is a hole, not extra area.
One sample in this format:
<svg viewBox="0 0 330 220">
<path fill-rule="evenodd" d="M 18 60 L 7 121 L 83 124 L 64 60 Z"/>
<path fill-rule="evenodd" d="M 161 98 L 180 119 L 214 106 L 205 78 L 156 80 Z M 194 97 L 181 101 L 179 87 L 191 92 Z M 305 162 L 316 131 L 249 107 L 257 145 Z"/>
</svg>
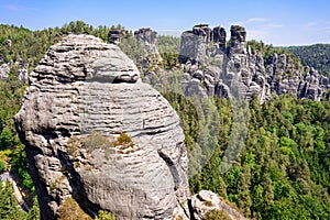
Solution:
<svg viewBox="0 0 330 220">
<path fill-rule="evenodd" d="M 18 69 L 31 72 L 47 48 L 67 33 L 92 34 L 108 41 L 111 29 L 124 30 L 121 25 L 94 28 L 82 21 L 42 31 L 0 25 L 0 65 L 11 64 L 8 79 L 0 79 L 0 173 L 10 170 L 31 207 L 29 211 L 22 210 L 14 199 L 11 184 L 0 182 L 0 219 L 40 218 L 24 145 L 19 141 L 13 121 L 28 86 L 19 80 Z M 141 45 L 131 32 L 125 32 L 124 37 L 120 46 L 136 62 L 136 51 L 143 53 Z M 158 36 L 157 44 L 163 57 L 162 74 L 166 74 L 166 69 L 177 70 L 179 38 Z M 273 50 L 257 42 L 250 42 L 250 45 Z M 289 47 L 288 52 L 300 57 L 295 56 L 297 62 L 329 76 L 329 45 Z M 191 194 L 212 190 L 251 219 L 330 219 L 328 100 L 300 100 L 285 95 L 260 103 L 253 97 L 243 103 L 248 110 L 242 108 L 242 111 L 246 111 L 233 112 L 232 100 L 212 98 L 205 100 L 206 113 L 200 116 L 194 97 L 186 98 L 166 90 L 162 94 L 180 117 L 188 154 L 204 152 L 201 154 L 209 158 L 190 176 Z M 217 119 L 210 117 L 213 113 L 207 113 L 211 111 L 217 112 Z M 249 116 L 248 133 L 237 162 L 222 173 L 219 166 L 235 125 L 233 113 Z M 219 127 L 217 132 L 210 129 L 215 127 L 215 120 Z M 212 144 L 210 151 L 198 148 L 196 143 L 204 139 Z M 190 166 L 195 166 L 194 158 L 197 157 L 190 158 Z"/>
</svg>

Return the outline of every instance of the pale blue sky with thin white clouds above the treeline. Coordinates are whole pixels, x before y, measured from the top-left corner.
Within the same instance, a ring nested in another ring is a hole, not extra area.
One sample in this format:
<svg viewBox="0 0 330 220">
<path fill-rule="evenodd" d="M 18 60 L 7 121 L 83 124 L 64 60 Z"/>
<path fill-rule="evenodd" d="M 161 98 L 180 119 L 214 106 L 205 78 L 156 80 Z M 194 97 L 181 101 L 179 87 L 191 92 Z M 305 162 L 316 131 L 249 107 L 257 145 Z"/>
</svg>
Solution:
<svg viewBox="0 0 330 220">
<path fill-rule="evenodd" d="M 330 43 L 329 0 L 0 0 L 0 23 L 31 30 L 82 20 L 179 34 L 198 23 L 241 24 L 248 38 L 273 45 Z"/>
</svg>

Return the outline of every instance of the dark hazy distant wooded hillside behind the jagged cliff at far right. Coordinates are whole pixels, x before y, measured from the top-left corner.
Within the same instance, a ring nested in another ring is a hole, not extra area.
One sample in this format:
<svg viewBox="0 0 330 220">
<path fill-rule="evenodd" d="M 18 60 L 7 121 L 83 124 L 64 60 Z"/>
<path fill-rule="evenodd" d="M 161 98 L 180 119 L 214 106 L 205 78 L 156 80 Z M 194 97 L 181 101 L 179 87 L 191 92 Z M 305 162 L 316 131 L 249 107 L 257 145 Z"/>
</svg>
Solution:
<svg viewBox="0 0 330 220">
<path fill-rule="evenodd" d="M 323 75 L 330 77 L 330 44 L 289 46 L 284 48 L 298 56 L 304 65 L 312 66 Z"/>
</svg>

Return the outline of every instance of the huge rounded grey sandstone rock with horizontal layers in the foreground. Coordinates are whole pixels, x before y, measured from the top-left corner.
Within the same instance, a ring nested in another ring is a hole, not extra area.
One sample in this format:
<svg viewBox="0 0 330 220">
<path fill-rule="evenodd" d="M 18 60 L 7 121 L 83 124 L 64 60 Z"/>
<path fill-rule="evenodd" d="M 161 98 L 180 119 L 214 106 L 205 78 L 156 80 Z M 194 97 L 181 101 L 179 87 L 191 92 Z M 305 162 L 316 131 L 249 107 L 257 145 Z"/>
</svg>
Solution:
<svg viewBox="0 0 330 220">
<path fill-rule="evenodd" d="M 189 197 L 179 118 L 116 45 L 68 35 L 52 46 L 15 122 L 42 219 L 68 197 L 91 216 L 168 219 Z"/>
</svg>

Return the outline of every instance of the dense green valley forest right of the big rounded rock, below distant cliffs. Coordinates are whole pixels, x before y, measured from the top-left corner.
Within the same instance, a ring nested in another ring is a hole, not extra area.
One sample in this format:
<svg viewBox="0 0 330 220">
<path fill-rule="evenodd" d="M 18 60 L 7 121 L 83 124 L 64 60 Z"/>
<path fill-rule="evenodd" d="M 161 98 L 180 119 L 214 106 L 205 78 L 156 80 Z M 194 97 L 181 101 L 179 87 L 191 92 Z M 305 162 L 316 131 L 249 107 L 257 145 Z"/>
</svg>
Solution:
<svg viewBox="0 0 330 220">
<path fill-rule="evenodd" d="M 194 151 L 202 133 L 194 124 L 210 119 L 195 114 L 196 106 L 187 105 L 186 98 L 169 94 L 165 98 L 178 111 L 188 151 Z M 226 99 L 216 98 L 215 105 L 221 128 L 218 142 L 201 172 L 189 179 L 190 190 L 212 190 L 250 218 L 329 219 L 330 102 L 289 96 L 264 105 L 251 100 L 245 146 L 224 174 L 219 166 L 230 141 L 232 109 Z"/>
</svg>

